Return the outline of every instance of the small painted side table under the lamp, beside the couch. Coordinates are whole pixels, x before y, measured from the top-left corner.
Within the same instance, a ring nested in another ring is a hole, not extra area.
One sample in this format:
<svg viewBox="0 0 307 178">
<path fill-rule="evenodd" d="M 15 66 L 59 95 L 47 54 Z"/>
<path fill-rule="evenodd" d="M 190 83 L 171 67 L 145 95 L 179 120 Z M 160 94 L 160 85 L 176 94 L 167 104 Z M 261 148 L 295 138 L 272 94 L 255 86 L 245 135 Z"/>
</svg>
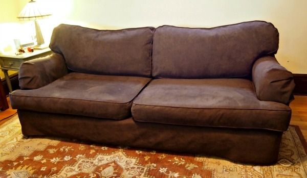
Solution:
<svg viewBox="0 0 307 178">
<path fill-rule="evenodd" d="M 34 50 L 33 53 L 24 53 L 21 55 L 15 55 L 12 53 L 0 54 L 0 65 L 1 69 L 5 75 L 5 80 L 7 81 L 9 91 L 12 91 L 12 84 L 9 78 L 8 70 L 19 71 L 20 65 L 23 62 L 29 61 L 31 59 L 45 57 L 52 54 L 50 48 Z"/>
</svg>

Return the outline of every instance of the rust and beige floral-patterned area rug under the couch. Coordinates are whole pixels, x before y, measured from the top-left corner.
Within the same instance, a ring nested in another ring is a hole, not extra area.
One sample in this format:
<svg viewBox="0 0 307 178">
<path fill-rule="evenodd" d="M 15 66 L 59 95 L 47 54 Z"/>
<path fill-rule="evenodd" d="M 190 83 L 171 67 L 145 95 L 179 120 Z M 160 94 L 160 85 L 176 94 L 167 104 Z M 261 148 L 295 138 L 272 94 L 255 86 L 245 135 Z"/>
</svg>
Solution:
<svg viewBox="0 0 307 178">
<path fill-rule="evenodd" d="M 271 166 L 252 166 L 68 139 L 24 139 L 15 115 L 0 126 L 0 177 L 307 177 L 302 139 L 299 129 L 290 126 L 282 136 L 279 161 Z"/>
</svg>

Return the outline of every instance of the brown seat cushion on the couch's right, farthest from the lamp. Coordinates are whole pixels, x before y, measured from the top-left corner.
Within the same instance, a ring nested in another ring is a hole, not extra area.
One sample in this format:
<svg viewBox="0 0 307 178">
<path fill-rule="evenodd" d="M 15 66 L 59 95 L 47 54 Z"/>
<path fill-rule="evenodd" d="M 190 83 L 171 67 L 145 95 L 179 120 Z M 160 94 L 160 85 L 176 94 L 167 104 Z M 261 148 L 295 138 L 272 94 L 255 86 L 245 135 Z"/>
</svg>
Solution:
<svg viewBox="0 0 307 178">
<path fill-rule="evenodd" d="M 245 79 L 156 79 L 134 100 L 136 121 L 286 131 L 291 109 L 257 99 Z"/>
</svg>

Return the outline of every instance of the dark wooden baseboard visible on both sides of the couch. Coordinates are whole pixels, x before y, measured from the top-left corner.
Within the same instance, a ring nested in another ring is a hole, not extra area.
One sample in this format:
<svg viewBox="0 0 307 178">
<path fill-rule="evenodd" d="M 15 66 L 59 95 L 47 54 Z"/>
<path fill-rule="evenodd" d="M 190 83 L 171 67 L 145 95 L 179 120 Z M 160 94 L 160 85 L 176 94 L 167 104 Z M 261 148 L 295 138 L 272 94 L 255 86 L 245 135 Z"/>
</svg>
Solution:
<svg viewBox="0 0 307 178">
<path fill-rule="evenodd" d="M 295 88 L 293 94 L 295 95 L 307 95 L 307 74 L 294 73 L 293 74 Z M 18 73 L 10 75 L 13 90 L 19 89 Z M 2 79 L 2 85 L 5 95 L 9 95 L 8 85 L 5 79 Z"/>
</svg>

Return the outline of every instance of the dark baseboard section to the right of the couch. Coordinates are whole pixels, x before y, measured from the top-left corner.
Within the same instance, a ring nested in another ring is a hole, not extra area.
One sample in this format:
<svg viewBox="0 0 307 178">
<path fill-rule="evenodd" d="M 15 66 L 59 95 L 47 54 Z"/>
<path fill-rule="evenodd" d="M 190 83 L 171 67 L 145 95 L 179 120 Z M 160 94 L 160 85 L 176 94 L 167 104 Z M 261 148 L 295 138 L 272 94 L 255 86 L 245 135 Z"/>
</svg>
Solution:
<svg viewBox="0 0 307 178">
<path fill-rule="evenodd" d="M 307 95 L 307 74 L 293 73 L 295 88 L 293 94 Z"/>
</svg>

